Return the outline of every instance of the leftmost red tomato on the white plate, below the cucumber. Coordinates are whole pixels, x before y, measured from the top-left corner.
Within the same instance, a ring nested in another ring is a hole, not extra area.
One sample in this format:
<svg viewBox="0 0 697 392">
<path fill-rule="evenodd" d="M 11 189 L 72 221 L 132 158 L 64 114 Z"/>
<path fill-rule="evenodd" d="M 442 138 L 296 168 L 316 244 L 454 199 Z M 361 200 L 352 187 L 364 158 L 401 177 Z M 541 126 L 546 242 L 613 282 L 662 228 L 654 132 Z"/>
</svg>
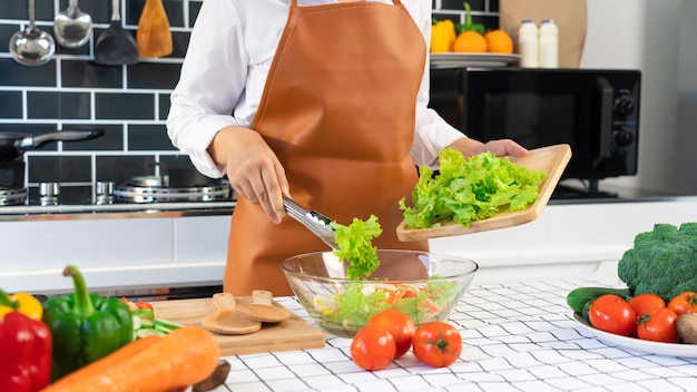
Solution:
<svg viewBox="0 0 697 392">
<path fill-rule="evenodd" d="M 630 336 L 637 331 L 634 308 L 618 295 L 605 294 L 597 297 L 590 305 L 588 316 L 590 325 L 605 332 Z"/>
</svg>

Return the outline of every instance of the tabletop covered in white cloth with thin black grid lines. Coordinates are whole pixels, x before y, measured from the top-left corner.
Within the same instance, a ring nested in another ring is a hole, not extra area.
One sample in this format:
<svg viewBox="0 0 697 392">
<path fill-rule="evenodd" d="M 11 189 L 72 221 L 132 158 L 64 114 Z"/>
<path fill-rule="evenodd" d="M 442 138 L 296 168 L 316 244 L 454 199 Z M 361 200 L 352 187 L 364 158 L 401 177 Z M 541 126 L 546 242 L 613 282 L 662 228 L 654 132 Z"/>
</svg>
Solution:
<svg viewBox="0 0 697 392">
<path fill-rule="evenodd" d="M 364 371 L 351 361 L 350 339 L 327 335 L 324 349 L 226 357 L 227 383 L 214 391 L 694 391 L 697 359 L 613 346 L 578 326 L 566 295 L 591 285 L 612 283 L 471 286 L 449 320 L 463 339 L 449 367 L 429 367 L 409 352 L 386 369 Z M 307 317 L 294 297 L 277 301 Z"/>
</svg>

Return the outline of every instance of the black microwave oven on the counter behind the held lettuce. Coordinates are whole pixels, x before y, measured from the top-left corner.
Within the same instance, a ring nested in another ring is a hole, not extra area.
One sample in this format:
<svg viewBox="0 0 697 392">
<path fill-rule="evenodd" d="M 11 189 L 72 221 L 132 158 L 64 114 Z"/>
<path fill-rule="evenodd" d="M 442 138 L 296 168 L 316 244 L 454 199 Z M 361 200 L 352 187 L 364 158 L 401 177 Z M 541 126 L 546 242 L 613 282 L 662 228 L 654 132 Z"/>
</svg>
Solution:
<svg viewBox="0 0 697 392">
<path fill-rule="evenodd" d="M 640 85 L 638 70 L 432 68 L 430 107 L 481 141 L 568 144 L 562 178 L 597 189 L 637 174 Z"/>
</svg>

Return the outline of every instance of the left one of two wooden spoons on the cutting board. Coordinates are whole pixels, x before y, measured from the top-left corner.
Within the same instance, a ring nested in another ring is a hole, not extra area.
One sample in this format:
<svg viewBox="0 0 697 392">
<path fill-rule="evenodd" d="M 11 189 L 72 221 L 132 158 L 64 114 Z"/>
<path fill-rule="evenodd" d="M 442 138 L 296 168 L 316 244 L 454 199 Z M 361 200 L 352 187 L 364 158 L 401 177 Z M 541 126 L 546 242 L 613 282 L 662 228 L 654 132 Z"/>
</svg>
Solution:
<svg viewBox="0 0 697 392">
<path fill-rule="evenodd" d="M 235 297 L 229 293 L 213 294 L 217 310 L 205 316 L 203 327 L 224 335 L 244 335 L 262 329 L 262 323 L 243 316 L 236 311 Z"/>
</svg>

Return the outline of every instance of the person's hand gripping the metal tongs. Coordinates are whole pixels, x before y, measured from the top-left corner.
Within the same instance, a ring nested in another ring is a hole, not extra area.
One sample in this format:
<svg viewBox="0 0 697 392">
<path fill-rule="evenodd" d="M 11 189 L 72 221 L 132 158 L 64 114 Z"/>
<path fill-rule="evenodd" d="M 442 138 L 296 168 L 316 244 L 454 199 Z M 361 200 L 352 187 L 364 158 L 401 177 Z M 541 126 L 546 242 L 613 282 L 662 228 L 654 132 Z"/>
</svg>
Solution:
<svg viewBox="0 0 697 392">
<path fill-rule="evenodd" d="M 285 215 L 283 195 L 288 195 L 285 169 L 257 131 L 229 126 L 220 129 L 208 154 L 218 165 L 225 165 L 230 186 L 238 196 L 264 208 L 274 223 Z"/>
</svg>

